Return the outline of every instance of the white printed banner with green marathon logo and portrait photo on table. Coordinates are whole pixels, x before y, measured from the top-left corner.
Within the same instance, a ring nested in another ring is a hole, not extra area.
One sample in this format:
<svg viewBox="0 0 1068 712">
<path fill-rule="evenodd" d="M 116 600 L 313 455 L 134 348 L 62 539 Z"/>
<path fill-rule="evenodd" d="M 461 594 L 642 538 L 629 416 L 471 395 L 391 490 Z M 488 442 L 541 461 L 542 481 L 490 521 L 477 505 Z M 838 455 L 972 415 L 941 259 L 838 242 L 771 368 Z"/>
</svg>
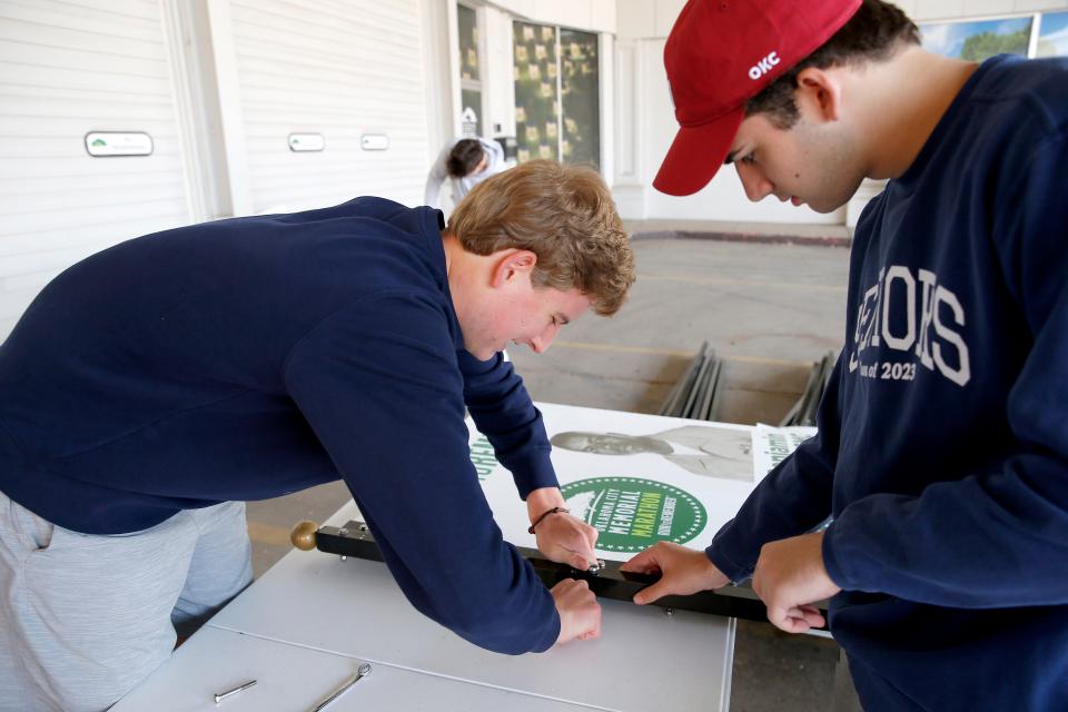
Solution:
<svg viewBox="0 0 1068 712">
<path fill-rule="evenodd" d="M 769 463 L 815 432 L 537 407 L 567 507 L 597 530 L 597 555 L 615 561 L 661 541 L 703 550 L 768 473 Z M 472 464 L 505 538 L 535 546 L 512 474 L 469 422 L 468 429 Z"/>
</svg>

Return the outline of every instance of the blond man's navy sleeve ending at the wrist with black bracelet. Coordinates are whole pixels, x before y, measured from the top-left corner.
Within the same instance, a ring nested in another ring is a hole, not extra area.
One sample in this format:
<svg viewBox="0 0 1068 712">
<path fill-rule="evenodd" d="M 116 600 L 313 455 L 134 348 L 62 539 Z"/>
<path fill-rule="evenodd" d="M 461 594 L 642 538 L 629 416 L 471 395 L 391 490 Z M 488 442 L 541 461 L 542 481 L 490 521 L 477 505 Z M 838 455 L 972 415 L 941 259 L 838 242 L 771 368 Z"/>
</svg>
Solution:
<svg viewBox="0 0 1068 712">
<path fill-rule="evenodd" d="M 558 486 L 542 414 L 512 364 L 501 354 L 486 362 L 464 350 L 458 354 L 467 411 L 512 473 L 520 496 L 526 500 L 535 490 Z"/>
</svg>

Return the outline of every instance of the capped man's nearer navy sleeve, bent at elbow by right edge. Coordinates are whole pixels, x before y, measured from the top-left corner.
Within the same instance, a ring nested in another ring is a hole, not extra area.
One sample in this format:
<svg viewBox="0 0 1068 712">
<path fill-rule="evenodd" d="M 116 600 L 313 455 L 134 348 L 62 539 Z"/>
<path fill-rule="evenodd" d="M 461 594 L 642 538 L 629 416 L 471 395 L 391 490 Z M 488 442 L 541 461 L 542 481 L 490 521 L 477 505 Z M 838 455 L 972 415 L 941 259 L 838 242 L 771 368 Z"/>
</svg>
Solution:
<svg viewBox="0 0 1068 712">
<path fill-rule="evenodd" d="M 1003 179 L 995 239 L 1034 336 L 1009 392 L 1017 453 L 919 496 L 847 506 L 823 541 L 843 589 L 956 607 L 1068 603 L 1068 150 L 1064 136 Z"/>
</svg>

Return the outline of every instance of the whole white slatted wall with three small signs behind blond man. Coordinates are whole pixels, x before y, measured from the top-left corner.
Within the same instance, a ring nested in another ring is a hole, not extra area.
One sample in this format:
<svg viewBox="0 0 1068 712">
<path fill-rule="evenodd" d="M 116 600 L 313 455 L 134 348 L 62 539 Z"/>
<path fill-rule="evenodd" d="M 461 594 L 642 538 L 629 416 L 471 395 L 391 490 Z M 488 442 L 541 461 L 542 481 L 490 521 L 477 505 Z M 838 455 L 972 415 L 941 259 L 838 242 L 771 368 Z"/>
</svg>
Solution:
<svg viewBox="0 0 1068 712">
<path fill-rule="evenodd" d="M 449 2 L 0 1 L 0 342 L 55 275 L 125 239 L 358 195 L 421 202 Z M 155 151 L 91 158 L 83 136 L 108 130 Z M 293 152 L 290 132 L 326 150 Z"/>
</svg>

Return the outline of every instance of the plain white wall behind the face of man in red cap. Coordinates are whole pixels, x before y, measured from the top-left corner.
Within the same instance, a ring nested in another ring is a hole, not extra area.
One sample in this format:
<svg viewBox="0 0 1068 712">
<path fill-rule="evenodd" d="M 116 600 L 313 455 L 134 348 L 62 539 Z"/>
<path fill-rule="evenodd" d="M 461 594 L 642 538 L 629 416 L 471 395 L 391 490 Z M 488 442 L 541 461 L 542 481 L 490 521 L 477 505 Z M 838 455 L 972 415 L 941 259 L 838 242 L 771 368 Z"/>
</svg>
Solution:
<svg viewBox="0 0 1068 712">
<path fill-rule="evenodd" d="M 678 130 L 663 69 L 664 42 L 684 0 L 616 0 L 616 202 L 625 218 L 745 220 L 761 222 L 837 224 L 847 208 L 819 215 L 773 197 L 750 202 L 733 170 L 721 170 L 700 192 L 684 198 L 652 188 L 656 170 Z M 917 21 L 1011 14 L 1068 8 L 1068 0 L 902 0 Z M 870 191 L 868 191 L 870 192 Z M 858 206 L 851 206 L 850 215 Z"/>
</svg>

